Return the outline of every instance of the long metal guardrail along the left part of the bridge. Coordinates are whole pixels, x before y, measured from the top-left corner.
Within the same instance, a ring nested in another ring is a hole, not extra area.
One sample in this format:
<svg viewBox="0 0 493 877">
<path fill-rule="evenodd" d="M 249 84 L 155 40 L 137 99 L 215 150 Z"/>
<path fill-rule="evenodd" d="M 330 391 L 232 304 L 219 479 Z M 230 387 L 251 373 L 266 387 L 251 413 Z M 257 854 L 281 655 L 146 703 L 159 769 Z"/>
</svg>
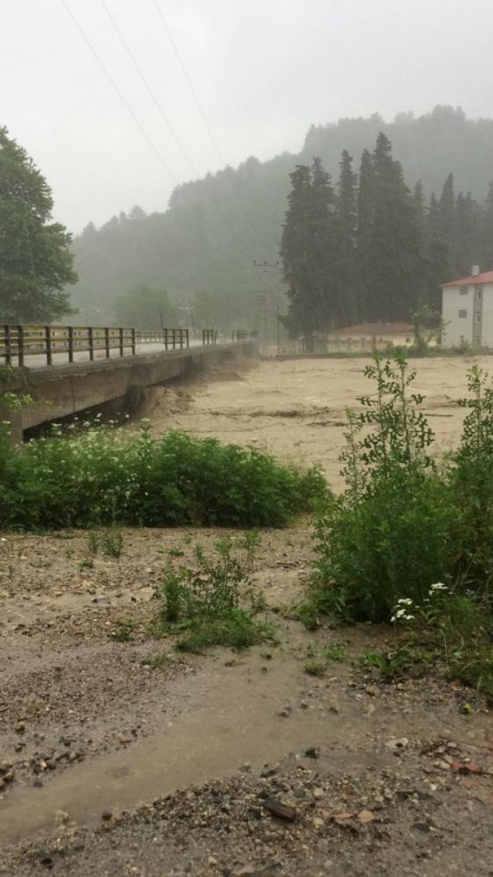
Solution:
<svg viewBox="0 0 493 877">
<path fill-rule="evenodd" d="M 51 366 L 57 353 L 68 354 L 68 362 L 74 362 L 77 353 L 89 353 L 90 361 L 103 353 L 109 360 L 112 351 L 118 356 L 135 355 L 136 346 L 152 343 L 162 344 L 165 350 L 188 348 L 189 330 L 4 324 L 0 327 L 0 362 L 23 367 L 28 357 L 43 356 Z"/>
</svg>

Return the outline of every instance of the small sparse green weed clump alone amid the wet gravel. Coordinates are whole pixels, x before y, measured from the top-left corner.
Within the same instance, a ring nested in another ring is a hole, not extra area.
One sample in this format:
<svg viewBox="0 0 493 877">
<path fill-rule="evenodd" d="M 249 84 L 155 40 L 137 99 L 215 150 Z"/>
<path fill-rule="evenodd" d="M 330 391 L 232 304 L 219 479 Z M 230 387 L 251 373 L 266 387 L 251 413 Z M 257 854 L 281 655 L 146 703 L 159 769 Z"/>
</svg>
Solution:
<svg viewBox="0 0 493 877">
<path fill-rule="evenodd" d="M 180 631 L 176 647 L 182 652 L 204 652 L 211 645 L 241 649 L 273 636 L 272 625 L 255 617 L 264 604 L 248 573 L 251 539 L 218 539 L 215 549 L 211 558 L 196 545 L 195 567 L 169 561 L 165 571 L 163 607 L 154 631 Z"/>
</svg>

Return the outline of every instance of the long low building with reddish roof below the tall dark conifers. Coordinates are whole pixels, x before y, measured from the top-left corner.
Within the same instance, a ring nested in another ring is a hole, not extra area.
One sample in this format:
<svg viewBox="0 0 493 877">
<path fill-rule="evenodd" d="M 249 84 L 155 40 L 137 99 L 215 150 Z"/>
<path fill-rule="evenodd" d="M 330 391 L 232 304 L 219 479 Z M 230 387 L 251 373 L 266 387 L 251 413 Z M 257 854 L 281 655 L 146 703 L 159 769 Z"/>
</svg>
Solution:
<svg viewBox="0 0 493 877">
<path fill-rule="evenodd" d="M 413 343 L 410 323 L 359 323 L 328 332 L 329 353 L 385 350 L 387 347 L 410 347 Z"/>
</svg>

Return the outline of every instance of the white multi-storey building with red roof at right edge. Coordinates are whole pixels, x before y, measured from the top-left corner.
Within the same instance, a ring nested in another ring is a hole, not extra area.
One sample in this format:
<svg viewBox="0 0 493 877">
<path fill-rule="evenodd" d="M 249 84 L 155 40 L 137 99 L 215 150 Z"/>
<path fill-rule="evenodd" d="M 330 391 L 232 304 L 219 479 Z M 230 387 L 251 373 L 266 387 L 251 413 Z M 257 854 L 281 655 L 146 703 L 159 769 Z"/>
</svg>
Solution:
<svg viewBox="0 0 493 877">
<path fill-rule="evenodd" d="M 493 271 L 474 265 L 470 277 L 444 283 L 441 296 L 444 346 L 493 347 Z"/>
</svg>

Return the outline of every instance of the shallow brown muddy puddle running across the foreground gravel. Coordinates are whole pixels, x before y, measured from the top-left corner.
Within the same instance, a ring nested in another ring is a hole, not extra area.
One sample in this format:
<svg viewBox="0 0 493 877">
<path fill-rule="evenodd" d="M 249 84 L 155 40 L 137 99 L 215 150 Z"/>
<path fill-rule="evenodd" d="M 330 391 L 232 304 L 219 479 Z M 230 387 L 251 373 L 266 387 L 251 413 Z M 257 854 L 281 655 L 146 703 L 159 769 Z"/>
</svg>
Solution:
<svg viewBox="0 0 493 877">
<path fill-rule="evenodd" d="M 347 711 L 341 720 L 329 701 L 302 701 L 306 680 L 303 664 L 285 652 L 272 660 L 261 650 L 245 658 L 223 656 L 190 679 L 186 690 L 180 683 L 170 689 L 162 731 L 75 765 L 40 788 L 12 790 L 0 803 L 2 837 L 16 840 L 51 828 L 60 811 L 76 823 L 97 824 L 104 811 L 132 808 L 246 763 L 258 768 L 341 737 L 350 746 Z M 179 715 L 168 718 L 177 701 Z"/>
</svg>

